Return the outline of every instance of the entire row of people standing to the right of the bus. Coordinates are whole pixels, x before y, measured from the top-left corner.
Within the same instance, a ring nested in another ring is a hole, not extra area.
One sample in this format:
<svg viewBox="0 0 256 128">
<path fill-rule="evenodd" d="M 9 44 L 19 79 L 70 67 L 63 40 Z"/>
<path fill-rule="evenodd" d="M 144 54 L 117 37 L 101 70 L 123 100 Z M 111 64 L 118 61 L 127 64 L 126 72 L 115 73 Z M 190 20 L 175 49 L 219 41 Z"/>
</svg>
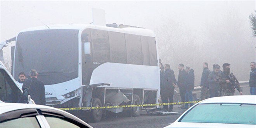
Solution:
<svg viewBox="0 0 256 128">
<path fill-rule="evenodd" d="M 256 95 L 256 64 L 250 63 L 251 73 L 249 79 L 250 93 Z M 224 63 L 222 65 L 223 71 L 218 64 L 213 64 L 213 71 L 208 68 L 208 63 L 202 64 L 203 72 L 201 77 L 201 100 L 218 96 L 234 95 L 235 88 L 242 95 L 242 89 L 239 81 L 233 73 L 230 73 L 230 64 Z M 194 70 L 184 64 L 178 65 L 179 74 L 178 81 L 176 81 L 174 71 L 170 69 L 169 64 L 163 64 L 160 60 L 160 86 L 161 86 L 161 99 L 163 103 L 173 102 L 173 94 L 175 87 L 179 88 L 180 97 L 182 102 L 193 101 L 192 91 L 195 86 Z M 190 103 L 190 107 L 193 103 Z M 182 109 L 188 109 L 189 104 L 182 104 L 179 106 Z M 164 106 L 163 111 L 172 111 L 173 105 Z"/>
</svg>

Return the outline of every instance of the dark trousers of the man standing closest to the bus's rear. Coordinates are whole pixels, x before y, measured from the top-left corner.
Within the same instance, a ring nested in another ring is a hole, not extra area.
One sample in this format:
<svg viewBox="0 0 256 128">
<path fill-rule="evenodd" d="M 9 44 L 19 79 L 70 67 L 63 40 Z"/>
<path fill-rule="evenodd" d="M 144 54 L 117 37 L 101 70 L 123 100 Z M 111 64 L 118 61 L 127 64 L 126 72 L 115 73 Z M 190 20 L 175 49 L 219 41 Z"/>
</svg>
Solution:
<svg viewBox="0 0 256 128">
<path fill-rule="evenodd" d="M 174 88 L 164 90 L 163 94 L 161 95 L 163 103 L 169 103 L 169 102 L 172 103 L 173 93 L 174 93 Z M 168 110 L 168 105 L 164 106 L 164 109 Z M 169 111 L 172 111 L 172 110 L 173 110 L 173 105 L 170 105 Z"/>
</svg>

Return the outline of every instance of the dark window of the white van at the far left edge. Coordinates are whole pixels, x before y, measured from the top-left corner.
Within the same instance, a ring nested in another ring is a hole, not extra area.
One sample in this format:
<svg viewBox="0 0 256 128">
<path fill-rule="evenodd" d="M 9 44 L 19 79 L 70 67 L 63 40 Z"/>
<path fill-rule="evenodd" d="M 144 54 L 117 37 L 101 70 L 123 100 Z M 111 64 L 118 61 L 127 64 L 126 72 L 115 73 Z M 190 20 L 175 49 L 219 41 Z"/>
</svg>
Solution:
<svg viewBox="0 0 256 128">
<path fill-rule="evenodd" d="M 0 69 L 0 100 L 8 103 L 16 103 L 19 94 L 21 95 L 21 91 L 14 81 L 12 81 L 5 70 Z"/>
</svg>

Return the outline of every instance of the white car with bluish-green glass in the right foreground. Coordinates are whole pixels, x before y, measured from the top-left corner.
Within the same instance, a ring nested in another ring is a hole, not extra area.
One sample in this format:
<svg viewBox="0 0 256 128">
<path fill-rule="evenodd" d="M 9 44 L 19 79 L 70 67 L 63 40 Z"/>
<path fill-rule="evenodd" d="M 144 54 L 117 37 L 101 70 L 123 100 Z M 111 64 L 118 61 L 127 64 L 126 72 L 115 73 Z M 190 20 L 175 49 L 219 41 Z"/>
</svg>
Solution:
<svg viewBox="0 0 256 128">
<path fill-rule="evenodd" d="M 203 100 L 165 128 L 256 128 L 256 95 Z"/>
</svg>

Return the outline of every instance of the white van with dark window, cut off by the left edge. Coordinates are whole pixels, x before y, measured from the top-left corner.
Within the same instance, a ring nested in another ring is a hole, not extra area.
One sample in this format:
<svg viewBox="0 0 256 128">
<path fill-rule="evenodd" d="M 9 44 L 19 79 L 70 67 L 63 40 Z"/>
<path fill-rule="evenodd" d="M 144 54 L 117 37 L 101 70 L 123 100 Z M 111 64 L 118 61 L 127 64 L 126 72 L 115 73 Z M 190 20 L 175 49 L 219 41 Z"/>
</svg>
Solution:
<svg viewBox="0 0 256 128">
<path fill-rule="evenodd" d="M 25 89 L 22 93 L 21 88 L 2 62 L 0 62 L 0 101 L 34 104 L 34 101 L 30 99 L 29 90 Z"/>
</svg>

